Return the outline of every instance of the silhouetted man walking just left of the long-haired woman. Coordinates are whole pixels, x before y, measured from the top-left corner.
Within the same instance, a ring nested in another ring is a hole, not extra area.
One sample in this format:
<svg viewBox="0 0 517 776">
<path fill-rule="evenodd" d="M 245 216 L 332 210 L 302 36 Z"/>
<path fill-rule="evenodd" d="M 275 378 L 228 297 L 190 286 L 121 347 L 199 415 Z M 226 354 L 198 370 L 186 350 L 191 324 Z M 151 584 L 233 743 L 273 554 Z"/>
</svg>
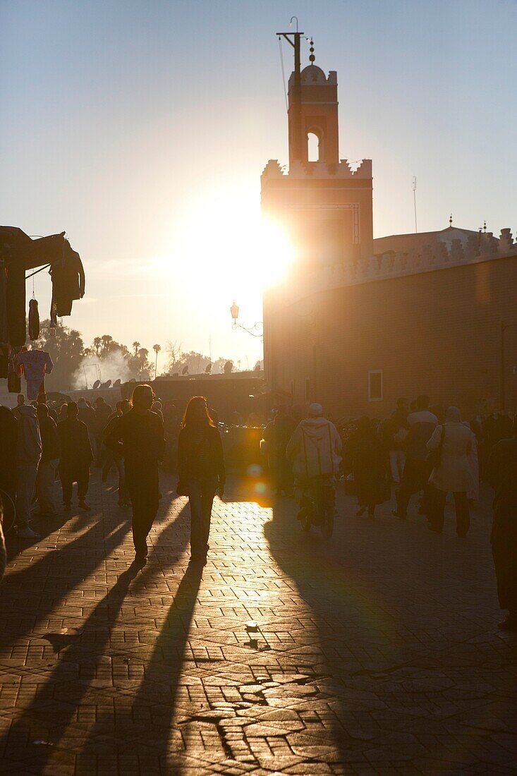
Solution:
<svg viewBox="0 0 517 776">
<path fill-rule="evenodd" d="M 147 534 L 158 512 L 158 461 L 163 458 L 163 424 L 154 412 L 151 386 L 140 385 L 133 392 L 133 407 L 117 418 L 106 435 L 113 452 L 122 452 L 126 484 L 133 507 L 135 561 L 147 563 Z"/>
</svg>

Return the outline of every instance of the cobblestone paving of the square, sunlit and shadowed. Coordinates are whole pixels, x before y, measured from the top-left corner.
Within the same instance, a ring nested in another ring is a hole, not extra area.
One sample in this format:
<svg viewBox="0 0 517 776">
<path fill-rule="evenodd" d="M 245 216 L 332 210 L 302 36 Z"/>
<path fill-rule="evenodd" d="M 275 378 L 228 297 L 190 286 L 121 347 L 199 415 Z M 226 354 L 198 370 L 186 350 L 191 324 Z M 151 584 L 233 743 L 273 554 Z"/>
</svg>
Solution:
<svg viewBox="0 0 517 776">
<path fill-rule="evenodd" d="M 450 514 L 434 535 L 389 504 L 356 518 L 342 496 L 328 541 L 292 501 L 261 507 L 234 483 L 201 575 L 172 484 L 137 573 L 98 469 L 91 513 L 12 540 L 2 773 L 517 773 L 517 638 L 496 627 L 488 493 L 463 540 Z"/>
</svg>

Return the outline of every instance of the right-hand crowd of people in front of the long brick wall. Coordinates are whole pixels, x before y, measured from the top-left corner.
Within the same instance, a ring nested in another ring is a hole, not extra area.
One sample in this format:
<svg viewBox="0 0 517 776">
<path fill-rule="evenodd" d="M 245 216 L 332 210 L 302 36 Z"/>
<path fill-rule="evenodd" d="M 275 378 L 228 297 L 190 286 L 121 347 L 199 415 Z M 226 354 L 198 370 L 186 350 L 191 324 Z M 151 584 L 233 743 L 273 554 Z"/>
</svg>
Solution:
<svg viewBox="0 0 517 776">
<path fill-rule="evenodd" d="M 308 421 L 298 424 L 297 414 L 280 410 L 262 435 L 272 487 L 279 495 L 292 495 L 300 467 L 302 474 L 309 470 L 308 456 L 315 449 L 311 429 L 320 430 L 320 474 L 343 480 L 345 490 L 357 498 L 358 517 L 373 518 L 376 507 L 393 498 L 394 516 L 405 520 L 411 497 L 418 494 L 418 514 L 427 519 L 430 531 L 442 533 L 447 495 L 452 494 L 456 534 L 464 539 L 480 481 L 489 483 L 494 489 L 491 546 L 498 597 L 501 608 L 508 610 L 499 625 L 517 629 L 517 415 L 494 411 L 462 421 L 458 407 L 448 407 L 441 417 L 425 395 L 411 405 L 399 399 L 383 420 L 359 417 L 337 424 L 338 429 L 322 417 L 319 404 L 309 407 Z M 322 470 L 325 449 L 328 463 Z"/>
</svg>

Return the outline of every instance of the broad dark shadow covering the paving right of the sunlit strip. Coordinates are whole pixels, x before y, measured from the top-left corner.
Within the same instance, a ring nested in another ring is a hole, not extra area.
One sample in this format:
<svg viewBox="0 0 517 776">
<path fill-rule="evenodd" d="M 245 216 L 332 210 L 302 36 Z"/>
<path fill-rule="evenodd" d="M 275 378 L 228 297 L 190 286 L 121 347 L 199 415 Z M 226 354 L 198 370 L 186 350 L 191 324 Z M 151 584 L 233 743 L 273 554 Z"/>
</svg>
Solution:
<svg viewBox="0 0 517 776">
<path fill-rule="evenodd" d="M 295 515 L 277 502 L 265 536 L 313 614 L 319 654 L 293 650 L 293 663 L 310 673 L 314 662 L 314 708 L 331 709 L 335 760 L 376 772 L 510 772 L 515 643 L 490 618 L 488 525 L 461 543 L 386 509 L 341 518 L 327 542 Z"/>
</svg>

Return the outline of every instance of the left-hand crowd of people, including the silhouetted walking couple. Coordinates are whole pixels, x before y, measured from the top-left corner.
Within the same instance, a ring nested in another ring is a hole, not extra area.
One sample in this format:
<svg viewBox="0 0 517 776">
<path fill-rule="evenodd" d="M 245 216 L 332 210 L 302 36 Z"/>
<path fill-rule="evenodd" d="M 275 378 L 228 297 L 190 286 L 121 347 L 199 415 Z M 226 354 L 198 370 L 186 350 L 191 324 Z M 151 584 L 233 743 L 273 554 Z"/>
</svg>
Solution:
<svg viewBox="0 0 517 776">
<path fill-rule="evenodd" d="M 136 386 L 131 401 L 113 409 L 99 397 L 47 404 L 44 395 L 26 404 L 19 394 L 14 410 L 0 406 L 0 498 L 16 504 L 20 539 L 36 539 L 31 518 L 55 518 L 57 476 L 63 508 L 71 511 L 74 483 L 77 506 L 86 501 L 92 466 L 102 481 L 116 467 L 119 506 L 132 508 L 135 563 L 147 559 L 147 535 L 161 497 L 159 466 L 179 472 L 178 492 L 189 496 L 191 562 L 206 563 L 210 514 L 216 492 L 224 492 L 224 456 L 217 421 L 206 399 L 194 397 L 182 420 L 174 404 L 163 411 L 151 386 Z M 3 548 L 3 542 L 0 542 Z M 0 553 L 0 565 L 4 556 Z"/>
</svg>

